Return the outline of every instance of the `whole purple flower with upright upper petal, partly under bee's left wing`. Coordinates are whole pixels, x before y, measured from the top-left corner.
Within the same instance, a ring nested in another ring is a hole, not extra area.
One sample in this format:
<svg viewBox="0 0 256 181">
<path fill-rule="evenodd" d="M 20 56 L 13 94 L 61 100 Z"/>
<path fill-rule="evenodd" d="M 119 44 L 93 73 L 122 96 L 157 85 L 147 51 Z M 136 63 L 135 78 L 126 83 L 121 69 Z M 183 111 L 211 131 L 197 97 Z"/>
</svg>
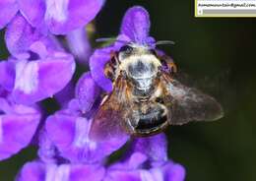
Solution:
<svg viewBox="0 0 256 181">
<path fill-rule="evenodd" d="M 98 95 L 96 83 L 90 74 L 85 74 L 77 84 L 76 98 L 71 100 L 69 108 L 47 118 L 46 135 L 59 156 L 71 162 L 97 162 L 126 143 L 127 137 L 104 143 L 90 139 L 92 115 L 96 111 L 94 105 Z"/>
</svg>

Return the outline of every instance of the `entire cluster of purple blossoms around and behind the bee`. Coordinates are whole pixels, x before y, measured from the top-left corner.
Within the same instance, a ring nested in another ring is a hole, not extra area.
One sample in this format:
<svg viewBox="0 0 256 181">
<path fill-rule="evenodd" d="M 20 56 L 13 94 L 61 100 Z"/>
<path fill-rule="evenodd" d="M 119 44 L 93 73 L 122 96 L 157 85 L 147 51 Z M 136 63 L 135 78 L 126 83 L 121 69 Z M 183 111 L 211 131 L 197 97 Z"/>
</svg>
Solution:
<svg viewBox="0 0 256 181">
<path fill-rule="evenodd" d="M 184 167 L 167 157 L 164 134 L 96 142 L 89 136 L 102 92 L 112 91 L 103 74 L 111 52 L 125 42 L 154 47 L 150 18 L 132 7 L 123 19 L 117 40 L 88 58 L 85 27 L 104 0 L 1 0 L 0 30 L 10 52 L 0 62 L 0 160 L 31 144 L 38 158 L 26 163 L 18 181 L 182 181 Z M 63 35 L 67 50 L 57 37 Z M 90 71 L 74 85 L 75 60 L 89 62 Z M 41 101 L 56 99 L 61 109 L 48 115 Z M 108 156 L 127 146 L 121 159 Z"/>
</svg>

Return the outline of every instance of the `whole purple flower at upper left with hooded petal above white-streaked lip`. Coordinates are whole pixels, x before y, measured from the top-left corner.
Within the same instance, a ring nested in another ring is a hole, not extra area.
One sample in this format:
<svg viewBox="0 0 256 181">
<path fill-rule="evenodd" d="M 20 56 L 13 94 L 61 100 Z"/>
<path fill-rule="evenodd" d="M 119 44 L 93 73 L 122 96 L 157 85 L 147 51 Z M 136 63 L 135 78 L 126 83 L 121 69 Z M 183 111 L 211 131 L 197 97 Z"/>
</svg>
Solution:
<svg viewBox="0 0 256 181">
<path fill-rule="evenodd" d="M 5 87 L 15 102 L 32 104 L 50 97 L 71 80 L 73 56 L 53 38 L 34 30 L 22 16 L 16 16 L 8 26 L 6 43 L 13 56 L 2 68 L 9 80 Z"/>
</svg>

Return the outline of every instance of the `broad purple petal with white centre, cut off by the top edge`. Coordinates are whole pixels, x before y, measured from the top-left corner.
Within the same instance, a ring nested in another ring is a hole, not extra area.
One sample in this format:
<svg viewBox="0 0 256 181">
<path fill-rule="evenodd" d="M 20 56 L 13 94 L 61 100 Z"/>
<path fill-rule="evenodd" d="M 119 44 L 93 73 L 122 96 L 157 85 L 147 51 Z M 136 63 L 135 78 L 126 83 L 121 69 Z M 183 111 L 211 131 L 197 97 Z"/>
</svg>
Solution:
<svg viewBox="0 0 256 181">
<path fill-rule="evenodd" d="M 104 0 L 22 0 L 19 5 L 33 27 L 65 34 L 91 22 L 103 3 Z"/>
</svg>

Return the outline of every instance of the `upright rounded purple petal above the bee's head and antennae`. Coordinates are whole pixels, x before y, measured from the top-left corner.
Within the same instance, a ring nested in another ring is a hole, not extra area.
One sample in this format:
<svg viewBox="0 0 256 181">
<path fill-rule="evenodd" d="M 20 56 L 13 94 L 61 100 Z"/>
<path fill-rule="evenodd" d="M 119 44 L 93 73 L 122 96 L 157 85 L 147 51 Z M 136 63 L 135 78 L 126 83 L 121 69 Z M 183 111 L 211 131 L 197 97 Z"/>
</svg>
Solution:
<svg viewBox="0 0 256 181">
<path fill-rule="evenodd" d="M 122 21 L 121 33 L 127 35 L 133 42 L 147 43 L 151 27 L 150 15 L 143 7 L 130 8 Z"/>
</svg>

